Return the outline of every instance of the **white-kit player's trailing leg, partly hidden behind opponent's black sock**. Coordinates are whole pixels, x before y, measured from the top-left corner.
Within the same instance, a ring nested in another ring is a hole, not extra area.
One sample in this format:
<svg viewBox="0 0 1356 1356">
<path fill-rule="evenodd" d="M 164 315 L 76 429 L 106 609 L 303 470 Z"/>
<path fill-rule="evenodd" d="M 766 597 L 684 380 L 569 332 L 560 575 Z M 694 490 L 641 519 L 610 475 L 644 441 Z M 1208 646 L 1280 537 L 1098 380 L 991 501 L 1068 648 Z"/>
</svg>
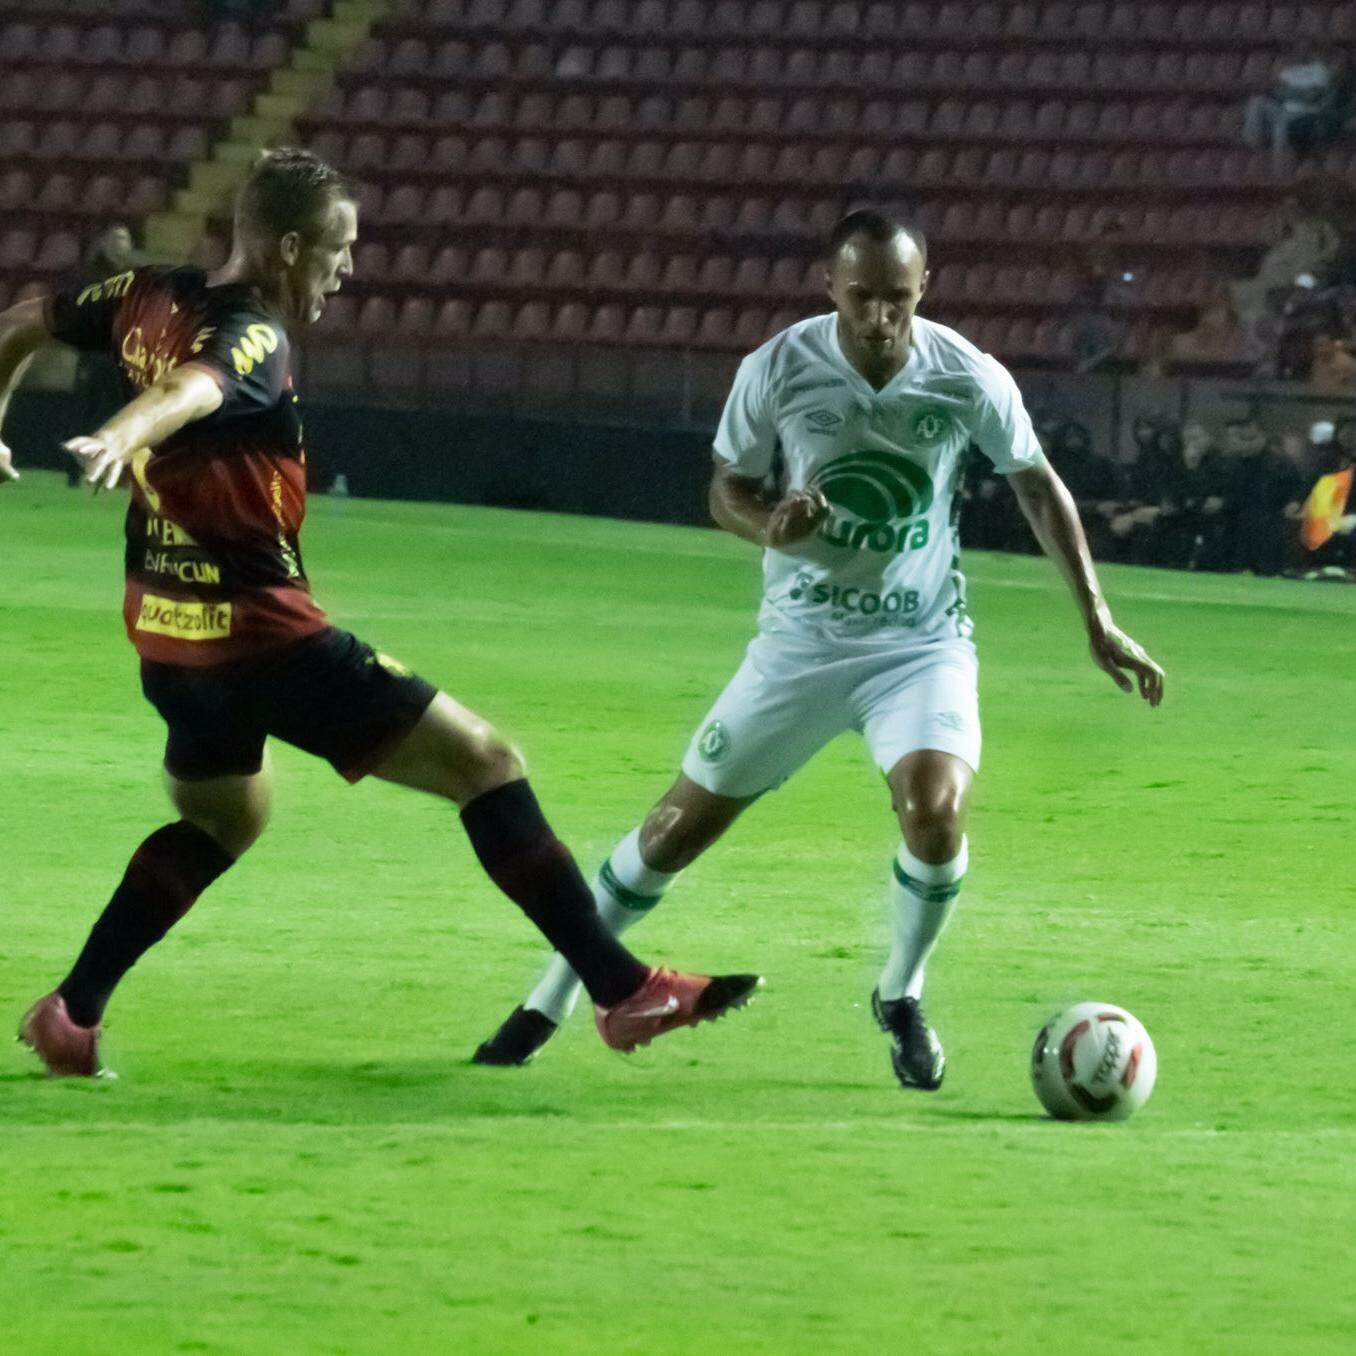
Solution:
<svg viewBox="0 0 1356 1356">
<path fill-rule="evenodd" d="M 679 774 L 639 829 L 612 850 L 594 877 L 598 914 L 613 936 L 645 917 L 678 873 L 697 860 L 754 797 L 717 796 Z M 526 1064 L 560 1029 L 579 1001 L 579 976 L 560 955 L 551 957 L 536 987 L 483 1041 L 472 1063 Z"/>
</svg>

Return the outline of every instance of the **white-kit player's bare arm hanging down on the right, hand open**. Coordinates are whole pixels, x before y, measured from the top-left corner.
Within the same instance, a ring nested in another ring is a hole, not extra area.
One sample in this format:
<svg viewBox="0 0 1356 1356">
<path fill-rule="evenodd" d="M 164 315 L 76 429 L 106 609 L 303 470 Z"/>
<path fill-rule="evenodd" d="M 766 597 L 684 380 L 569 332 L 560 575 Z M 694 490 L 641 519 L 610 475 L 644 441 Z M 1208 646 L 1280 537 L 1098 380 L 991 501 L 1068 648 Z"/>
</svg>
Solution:
<svg viewBox="0 0 1356 1356">
<path fill-rule="evenodd" d="M 1163 670 L 1112 621 L 1073 495 L 1048 462 L 1017 471 L 1008 480 L 1040 549 L 1069 583 L 1088 628 L 1093 663 L 1111 674 L 1121 692 L 1134 692 L 1138 685 L 1140 697 L 1157 706 L 1163 700 Z"/>
</svg>

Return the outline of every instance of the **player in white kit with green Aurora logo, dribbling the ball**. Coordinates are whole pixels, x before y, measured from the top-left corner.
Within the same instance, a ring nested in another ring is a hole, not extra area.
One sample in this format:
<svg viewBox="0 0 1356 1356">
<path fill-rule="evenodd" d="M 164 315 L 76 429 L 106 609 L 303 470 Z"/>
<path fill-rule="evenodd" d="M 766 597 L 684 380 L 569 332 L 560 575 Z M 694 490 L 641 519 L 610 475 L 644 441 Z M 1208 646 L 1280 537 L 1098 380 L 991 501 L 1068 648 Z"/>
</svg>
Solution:
<svg viewBox="0 0 1356 1356">
<path fill-rule="evenodd" d="M 872 1009 L 899 1082 L 936 1089 L 945 1056 L 919 999 L 965 875 L 980 747 L 953 511 L 972 442 L 1067 579 L 1093 660 L 1153 706 L 1163 673 L 1112 621 L 1078 511 L 1013 378 L 956 331 L 914 315 L 928 285 L 922 236 L 879 212 L 852 213 L 830 237 L 827 283 L 835 311 L 740 363 L 716 433 L 712 515 L 763 548 L 758 635 L 678 780 L 603 862 L 594 898 L 612 928 L 626 928 L 747 805 L 835 735 L 858 731 L 903 831 L 888 883 L 892 945 Z M 578 995 L 553 957 L 475 1060 L 526 1063 Z"/>
</svg>

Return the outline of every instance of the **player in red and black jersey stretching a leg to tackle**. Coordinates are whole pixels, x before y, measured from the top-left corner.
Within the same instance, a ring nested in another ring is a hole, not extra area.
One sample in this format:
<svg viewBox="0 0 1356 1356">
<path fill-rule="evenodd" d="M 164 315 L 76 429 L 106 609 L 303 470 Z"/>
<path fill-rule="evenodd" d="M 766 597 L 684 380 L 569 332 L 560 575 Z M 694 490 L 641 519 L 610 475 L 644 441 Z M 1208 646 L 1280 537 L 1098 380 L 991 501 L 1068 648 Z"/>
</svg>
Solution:
<svg viewBox="0 0 1356 1356">
<path fill-rule="evenodd" d="M 179 814 L 137 848 L 71 972 L 24 1017 L 22 1039 L 54 1074 L 100 1071 L 117 983 L 263 831 L 270 735 L 348 781 L 370 773 L 456 803 L 490 877 L 579 972 L 613 1048 L 716 1017 L 758 983 L 632 956 L 599 921 L 519 755 L 312 598 L 290 335 L 353 273 L 355 239 L 351 186 L 308 152 L 271 151 L 241 188 L 216 275 L 129 270 L 0 313 L 0 416 L 30 354 L 53 340 L 111 351 L 126 378 L 129 404 L 66 450 L 96 491 L 130 490 L 123 616 L 168 727 Z"/>
</svg>

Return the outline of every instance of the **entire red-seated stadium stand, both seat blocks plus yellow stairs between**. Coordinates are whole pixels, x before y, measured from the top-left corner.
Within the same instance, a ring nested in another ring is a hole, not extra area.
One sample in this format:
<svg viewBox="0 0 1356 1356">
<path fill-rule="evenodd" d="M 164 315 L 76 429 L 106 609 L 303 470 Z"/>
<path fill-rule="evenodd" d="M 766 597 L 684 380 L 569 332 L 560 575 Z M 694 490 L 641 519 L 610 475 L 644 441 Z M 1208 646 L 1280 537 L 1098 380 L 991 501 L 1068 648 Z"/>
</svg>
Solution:
<svg viewBox="0 0 1356 1356">
<path fill-rule="evenodd" d="M 281 85 L 306 24 L 346 7 L 369 37 L 338 77 L 316 62 Z M 926 313 L 1026 366 L 1073 361 L 1088 259 L 1115 232 L 1135 358 L 1276 236 L 1290 179 L 1241 144 L 1242 104 L 1296 34 L 1340 49 L 1356 11 L 286 0 L 247 30 L 187 0 L 3 3 L 0 292 L 68 270 L 110 212 L 149 216 L 170 252 L 206 225 L 195 256 L 220 260 L 251 136 L 300 136 L 362 184 L 357 277 L 312 346 L 324 380 L 354 370 L 336 353 L 354 336 L 418 369 L 430 336 L 571 336 L 706 353 L 719 385 L 819 305 L 816 247 L 865 202 L 934 240 Z M 294 129 L 305 98 L 248 117 L 277 88 L 317 91 Z M 1315 168 L 1351 174 L 1356 144 Z M 433 380 L 380 366 L 400 389 Z"/>
</svg>

